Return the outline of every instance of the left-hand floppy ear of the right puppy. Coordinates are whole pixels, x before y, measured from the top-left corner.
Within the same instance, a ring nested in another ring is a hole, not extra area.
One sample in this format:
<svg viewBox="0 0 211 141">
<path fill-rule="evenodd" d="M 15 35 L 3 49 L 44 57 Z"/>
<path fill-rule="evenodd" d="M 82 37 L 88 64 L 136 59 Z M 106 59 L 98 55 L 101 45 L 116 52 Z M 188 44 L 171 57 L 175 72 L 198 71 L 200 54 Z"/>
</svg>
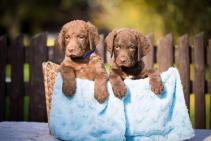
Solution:
<svg viewBox="0 0 211 141">
<path fill-rule="evenodd" d="M 105 38 L 107 50 L 110 52 L 111 58 L 112 58 L 112 56 L 114 54 L 114 39 L 115 39 L 116 35 L 117 35 L 117 31 L 113 30 Z"/>
</svg>

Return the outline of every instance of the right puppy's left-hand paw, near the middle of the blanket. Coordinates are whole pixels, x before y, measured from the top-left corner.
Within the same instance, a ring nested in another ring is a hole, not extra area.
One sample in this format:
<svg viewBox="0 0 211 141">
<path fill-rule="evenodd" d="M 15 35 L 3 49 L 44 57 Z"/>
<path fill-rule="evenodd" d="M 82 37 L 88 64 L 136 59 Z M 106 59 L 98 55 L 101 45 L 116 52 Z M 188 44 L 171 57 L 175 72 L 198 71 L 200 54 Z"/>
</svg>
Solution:
<svg viewBox="0 0 211 141">
<path fill-rule="evenodd" d="M 127 93 L 127 88 L 126 88 L 124 82 L 123 83 L 116 83 L 112 86 L 112 88 L 113 88 L 113 91 L 114 91 L 114 95 L 116 97 L 120 98 L 120 99 L 122 97 L 124 97 Z"/>
</svg>

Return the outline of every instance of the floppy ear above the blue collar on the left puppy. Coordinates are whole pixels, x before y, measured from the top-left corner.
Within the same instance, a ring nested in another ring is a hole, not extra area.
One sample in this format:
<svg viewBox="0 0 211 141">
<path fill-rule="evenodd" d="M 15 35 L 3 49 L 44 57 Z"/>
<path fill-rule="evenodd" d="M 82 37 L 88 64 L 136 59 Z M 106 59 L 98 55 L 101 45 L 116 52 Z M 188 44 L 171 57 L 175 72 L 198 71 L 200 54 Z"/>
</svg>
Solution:
<svg viewBox="0 0 211 141">
<path fill-rule="evenodd" d="M 97 45 L 100 42 L 100 36 L 98 34 L 97 28 L 91 24 L 90 22 L 87 22 L 87 27 L 88 27 L 88 38 L 89 38 L 89 46 L 90 49 L 94 49 L 97 47 Z"/>
</svg>

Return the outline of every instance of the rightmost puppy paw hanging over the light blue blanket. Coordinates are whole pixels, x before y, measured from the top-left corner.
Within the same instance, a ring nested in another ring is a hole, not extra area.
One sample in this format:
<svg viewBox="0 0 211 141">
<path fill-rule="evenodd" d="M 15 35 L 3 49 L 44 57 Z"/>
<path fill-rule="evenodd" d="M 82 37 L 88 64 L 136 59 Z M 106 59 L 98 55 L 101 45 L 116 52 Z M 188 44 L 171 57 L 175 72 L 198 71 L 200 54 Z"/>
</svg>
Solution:
<svg viewBox="0 0 211 141">
<path fill-rule="evenodd" d="M 163 90 L 164 90 L 164 86 L 163 83 L 161 81 L 157 81 L 157 80 L 150 80 L 150 84 L 151 84 L 151 90 L 156 94 L 156 95 L 160 95 Z"/>
</svg>

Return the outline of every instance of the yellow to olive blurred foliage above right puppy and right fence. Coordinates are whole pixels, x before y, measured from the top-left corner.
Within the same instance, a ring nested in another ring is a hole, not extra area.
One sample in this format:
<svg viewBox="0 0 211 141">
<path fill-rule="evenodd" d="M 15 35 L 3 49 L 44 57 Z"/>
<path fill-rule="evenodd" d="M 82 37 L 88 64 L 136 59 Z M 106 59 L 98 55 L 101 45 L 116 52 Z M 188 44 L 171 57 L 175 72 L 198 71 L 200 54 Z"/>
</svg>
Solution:
<svg viewBox="0 0 211 141">
<path fill-rule="evenodd" d="M 174 35 L 211 34 L 211 3 L 207 0 L 96 0 L 98 12 L 92 14 L 100 27 L 133 27 L 157 37 L 169 32 Z"/>
</svg>

